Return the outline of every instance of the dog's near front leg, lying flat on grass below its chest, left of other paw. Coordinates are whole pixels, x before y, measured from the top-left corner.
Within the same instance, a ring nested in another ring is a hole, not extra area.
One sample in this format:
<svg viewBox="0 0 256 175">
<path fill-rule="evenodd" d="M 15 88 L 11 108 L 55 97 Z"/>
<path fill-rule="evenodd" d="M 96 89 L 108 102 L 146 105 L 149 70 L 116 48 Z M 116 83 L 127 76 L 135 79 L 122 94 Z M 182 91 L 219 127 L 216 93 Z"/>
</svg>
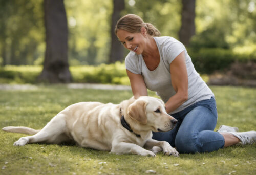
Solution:
<svg viewBox="0 0 256 175">
<path fill-rule="evenodd" d="M 146 150 L 134 143 L 117 142 L 112 143 L 111 152 L 115 154 L 136 154 L 141 156 L 153 156 L 156 155 L 150 150 Z"/>
</svg>

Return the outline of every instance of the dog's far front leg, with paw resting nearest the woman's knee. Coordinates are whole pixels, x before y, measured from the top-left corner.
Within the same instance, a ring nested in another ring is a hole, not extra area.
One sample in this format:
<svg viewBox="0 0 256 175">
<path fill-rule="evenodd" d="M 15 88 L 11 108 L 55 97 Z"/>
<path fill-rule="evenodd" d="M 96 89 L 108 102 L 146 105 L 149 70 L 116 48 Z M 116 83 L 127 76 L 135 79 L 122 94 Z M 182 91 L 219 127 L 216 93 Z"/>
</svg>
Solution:
<svg viewBox="0 0 256 175">
<path fill-rule="evenodd" d="M 165 155 L 174 155 L 176 157 L 180 155 L 179 152 L 166 141 L 150 139 L 146 141 L 144 147 L 147 149 L 153 149 L 154 152 L 158 152 L 160 150 L 159 148 L 161 148 Z"/>
</svg>

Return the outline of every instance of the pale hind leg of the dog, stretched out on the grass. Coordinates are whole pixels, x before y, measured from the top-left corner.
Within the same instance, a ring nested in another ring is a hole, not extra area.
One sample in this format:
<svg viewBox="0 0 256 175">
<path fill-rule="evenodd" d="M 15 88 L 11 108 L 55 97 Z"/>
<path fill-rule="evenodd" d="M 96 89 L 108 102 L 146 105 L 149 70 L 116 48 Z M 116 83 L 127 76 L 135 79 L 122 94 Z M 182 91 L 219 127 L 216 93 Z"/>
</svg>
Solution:
<svg viewBox="0 0 256 175">
<path fill-rule="evenodd" d="M 28 143 L 61 143 L 69 141 L 68 136 L 65 135 L 66 121 L 65 116 L 58 114 L 47 125 L 33 136 L 22 137 L 16 141 L 14 146 L 24 146 Z"/>
</svg>

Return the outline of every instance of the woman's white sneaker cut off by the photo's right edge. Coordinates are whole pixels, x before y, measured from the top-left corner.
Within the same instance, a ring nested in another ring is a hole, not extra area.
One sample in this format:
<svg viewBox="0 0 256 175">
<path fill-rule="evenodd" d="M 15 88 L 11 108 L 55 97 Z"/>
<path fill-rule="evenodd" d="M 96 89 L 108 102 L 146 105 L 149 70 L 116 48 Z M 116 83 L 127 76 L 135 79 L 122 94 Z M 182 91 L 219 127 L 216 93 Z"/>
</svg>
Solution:
<svg viewBox="0 0 256 175">
<path fill-rule="evenodd" d="M 240 139 L 242 145 L 253 144 L 256 142 L 256 131 L 248 132 L 228 132 Z"/>
</svg>

